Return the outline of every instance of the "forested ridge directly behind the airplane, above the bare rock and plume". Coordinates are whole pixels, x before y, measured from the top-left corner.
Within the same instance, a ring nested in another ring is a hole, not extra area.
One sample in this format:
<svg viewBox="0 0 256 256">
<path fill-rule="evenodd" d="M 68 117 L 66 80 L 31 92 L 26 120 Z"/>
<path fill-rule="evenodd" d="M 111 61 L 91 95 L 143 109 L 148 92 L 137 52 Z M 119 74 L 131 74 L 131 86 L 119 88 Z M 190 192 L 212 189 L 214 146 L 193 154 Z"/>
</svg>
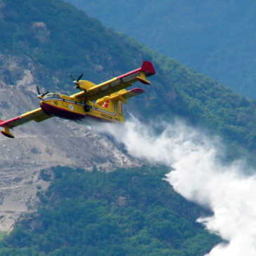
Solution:
<svg viewBox="0 0 256 256">
<path fill-rule="evenodd" d="M 184 116 L 255 150 L 255 102 L 180 62 L 142 48 L 63 1 L 1 3 L 2 84 L 18 85 L 26 71 L 39 86 L 67 91 L 72 88 L 69 72 L 74 76 L 83 72 L 84 79 L 98 83 L 151 60 L 157 72 L 152 86 L 130 101 L 129 112 L 143 120 Z"/>
</svg>

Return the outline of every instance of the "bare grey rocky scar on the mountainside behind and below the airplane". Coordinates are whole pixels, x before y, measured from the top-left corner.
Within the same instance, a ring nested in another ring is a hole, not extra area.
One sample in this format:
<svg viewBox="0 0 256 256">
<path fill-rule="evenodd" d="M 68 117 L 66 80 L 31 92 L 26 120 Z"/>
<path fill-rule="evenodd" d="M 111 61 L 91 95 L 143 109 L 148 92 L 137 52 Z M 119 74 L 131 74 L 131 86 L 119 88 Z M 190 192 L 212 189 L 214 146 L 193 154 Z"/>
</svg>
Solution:
<svg viewBox="0 0 256 256">
<path fill-rule="evenodd" d="M 29 72 L 22 81 L 26 79 L 31 85 Z M 11 119 L 37 107 L 35 88 L 1 86 L 0 119 Z M 140 165 L 108 136 L 83 123 L 53 117 L 18 126 L 12 133 L 15 139 L 0 134 L 0 231 L 10 230 L 22 213 L 35 210 L 38 192 L 49 185 L 40 178 L 42 169 L 71 166 L 109 172 Z"/>
</svg>

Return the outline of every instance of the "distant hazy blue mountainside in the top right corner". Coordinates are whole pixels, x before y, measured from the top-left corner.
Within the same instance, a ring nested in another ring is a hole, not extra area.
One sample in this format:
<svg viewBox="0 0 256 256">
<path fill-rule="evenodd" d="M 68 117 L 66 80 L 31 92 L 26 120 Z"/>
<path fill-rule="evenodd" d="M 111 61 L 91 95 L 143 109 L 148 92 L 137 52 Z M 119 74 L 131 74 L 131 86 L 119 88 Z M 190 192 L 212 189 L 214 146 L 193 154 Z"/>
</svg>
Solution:
<svg viewBox="0 0 256 256">
<path fill-rule="evenodd" d="M 256 99 L 255 1 L 67 1 L 107 27 Z"/>
</svg>

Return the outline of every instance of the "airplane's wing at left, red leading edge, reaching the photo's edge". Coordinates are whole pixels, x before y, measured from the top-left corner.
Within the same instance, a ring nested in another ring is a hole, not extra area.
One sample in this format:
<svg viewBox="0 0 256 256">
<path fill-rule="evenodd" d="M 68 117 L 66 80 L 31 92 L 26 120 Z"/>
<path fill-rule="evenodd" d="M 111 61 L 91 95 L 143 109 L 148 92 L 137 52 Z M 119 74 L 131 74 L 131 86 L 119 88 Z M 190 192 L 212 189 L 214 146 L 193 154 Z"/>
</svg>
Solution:
<svg viewBox="0 0 256 256">
<path fill-rule="evenodd" d="M 16 116 L 15 118 L 9 119 L 7 121 L 0 119 L 0 126 L 4 128 L 4 130 L 1 130 L 1 133 L 4 134 L 6 137 L 13 138 L 14 136 L 10 133 L 10 128 L 20 126 L 21 124 L 27 123 L 32 120 L 36 122 L 41 122 L 43 120 L 49 119 L 50 117 L 52 116 L 44 113 L 40 107 L 39 109 L 34 109 L 30 112 L 27 112 L 20 116 Z"/>
</svg>

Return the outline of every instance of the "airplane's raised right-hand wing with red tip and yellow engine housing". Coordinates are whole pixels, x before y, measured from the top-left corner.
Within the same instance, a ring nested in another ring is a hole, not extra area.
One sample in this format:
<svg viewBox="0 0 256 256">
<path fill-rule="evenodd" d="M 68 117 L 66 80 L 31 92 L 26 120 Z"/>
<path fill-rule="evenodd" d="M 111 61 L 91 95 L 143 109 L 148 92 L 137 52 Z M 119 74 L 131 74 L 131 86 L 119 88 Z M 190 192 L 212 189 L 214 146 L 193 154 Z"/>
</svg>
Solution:
<svg viewBox="0 0 256 256">
<path fill-rule="evenodd" d="M 84 98 L 86 100 L 94 101 L 110 95 L 116 91 L 122 90 L 131 86 L 136 81 L 140 81 L 144 84 L 150 84 L 146 79 L 147 76 L 156 74 L 155 69 L 151 62 L 144 61 L 142 67 L 135 69 L 131 72 L 123 74 L 118 77 L 114 77 L 109 81 L 95 85 L 90 81 L 80 80 L 78 82 L 78 88 L 83 90 L 81 93 L 76 93 L 72 97 Z"/>
</svg>

